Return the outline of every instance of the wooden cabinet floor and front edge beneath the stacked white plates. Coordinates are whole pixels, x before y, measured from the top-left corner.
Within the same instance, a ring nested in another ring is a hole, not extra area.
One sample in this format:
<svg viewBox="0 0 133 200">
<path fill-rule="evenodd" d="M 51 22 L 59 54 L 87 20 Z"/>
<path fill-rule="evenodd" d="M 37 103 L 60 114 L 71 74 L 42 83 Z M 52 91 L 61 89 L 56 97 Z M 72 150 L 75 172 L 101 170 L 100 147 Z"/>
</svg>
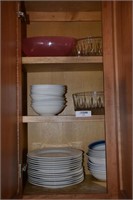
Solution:
<svg viewBox="0 0 133 200">
<path fill-rule="evenodd" d="M 73 199 L 78 196 L 78 199 L 88 199 L 96 195 L 98 197 L 106 196 L 106 182 L 101 182 L 93 178 L 91 175 L 86 175 L 85 180 L 77 185 L 60 188 L 50 189 L 45 187 L 39 187 L 30 183 L 26 184 L 24 189 L 23 199 Z"/>
</svg>

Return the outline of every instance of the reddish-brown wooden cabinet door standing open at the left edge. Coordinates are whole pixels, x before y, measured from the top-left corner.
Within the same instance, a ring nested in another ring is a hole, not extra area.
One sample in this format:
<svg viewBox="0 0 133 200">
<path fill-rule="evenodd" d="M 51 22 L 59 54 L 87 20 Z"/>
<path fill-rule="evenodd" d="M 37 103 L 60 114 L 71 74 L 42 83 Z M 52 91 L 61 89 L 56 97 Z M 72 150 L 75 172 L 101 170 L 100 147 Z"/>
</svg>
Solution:
<svg viewBox="0 0 133 200">
<path fill-rule="evenodd" d="M 1 198 L 19 192 L 18 165 L 18 3 L 1 4 Z"/>
</svg>

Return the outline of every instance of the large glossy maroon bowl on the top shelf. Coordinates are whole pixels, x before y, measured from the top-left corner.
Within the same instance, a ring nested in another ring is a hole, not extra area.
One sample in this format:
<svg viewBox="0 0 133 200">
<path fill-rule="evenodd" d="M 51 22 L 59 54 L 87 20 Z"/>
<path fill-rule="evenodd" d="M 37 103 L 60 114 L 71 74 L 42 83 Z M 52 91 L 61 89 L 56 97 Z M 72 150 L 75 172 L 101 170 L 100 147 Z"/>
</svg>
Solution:
<svg viewBox="0 0 133 200">
<path fill-rule="evenodd" d="M 71 56 L 77 40 L 63 36 L 25 38 L 22 50 L 26 56 Z"/>
</svg>

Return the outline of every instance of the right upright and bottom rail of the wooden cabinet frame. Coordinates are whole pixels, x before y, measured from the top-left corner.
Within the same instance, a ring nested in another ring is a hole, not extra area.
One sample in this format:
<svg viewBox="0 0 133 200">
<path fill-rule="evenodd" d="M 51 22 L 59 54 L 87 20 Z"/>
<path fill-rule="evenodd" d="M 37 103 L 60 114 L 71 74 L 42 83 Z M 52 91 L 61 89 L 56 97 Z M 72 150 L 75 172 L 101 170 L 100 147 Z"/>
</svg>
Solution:
<svg viewBox="0 0 133 200">
<path fill-rule="evenodd" d="M 104 64 L 104 91 L 105 91 L 105 132 L 107 151 L 107 193 L 103 194 L 65 194 L 65 195 L 25 195 L 23 198 L 118 198 L 119 196 L 119 171 L 117 149 L 117 118 L 116 118 L 116 91 L 114 70 L 114 38 L 113 38 L 113 3 L 102 2 L 103 20 L 103 64 Z M 23 124 L 23 126 L 25 126 Z M 113 147 L 113 148 L 112 148 Z M 111 152 L 111 153 L 110 153 Z"/>
</svg>

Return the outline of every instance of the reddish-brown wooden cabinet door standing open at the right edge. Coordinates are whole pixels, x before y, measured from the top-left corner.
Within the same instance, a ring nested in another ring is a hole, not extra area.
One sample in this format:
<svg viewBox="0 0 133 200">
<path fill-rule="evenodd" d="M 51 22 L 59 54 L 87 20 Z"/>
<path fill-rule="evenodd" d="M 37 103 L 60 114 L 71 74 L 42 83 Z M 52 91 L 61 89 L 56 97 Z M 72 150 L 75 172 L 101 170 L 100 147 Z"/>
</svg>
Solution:
<svg viewBox="0 0 133 200">
<path fill-rule="evenodd" d="M 132 199 L 132 1 L 114 3 L 120 191 Z"/>
</svg>

